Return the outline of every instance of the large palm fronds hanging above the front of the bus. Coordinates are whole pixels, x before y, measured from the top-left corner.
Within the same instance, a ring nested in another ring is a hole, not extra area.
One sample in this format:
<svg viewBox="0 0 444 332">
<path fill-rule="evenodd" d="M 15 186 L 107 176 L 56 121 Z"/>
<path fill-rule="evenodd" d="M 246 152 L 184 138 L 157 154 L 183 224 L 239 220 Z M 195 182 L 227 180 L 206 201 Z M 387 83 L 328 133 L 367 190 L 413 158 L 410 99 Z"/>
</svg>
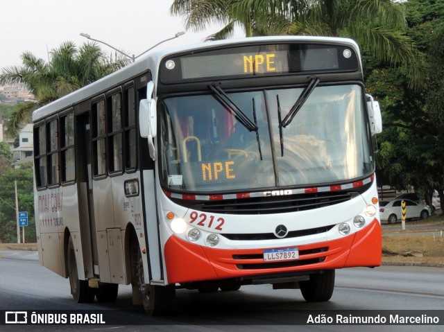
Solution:
<svg viewBox="0 0 444 332">
<path fill-rule="evenodd" d="M 404 35 L 407 24 L 401 3 L 390 0 L 175 0 L 171 13 L 185 15 L 187 29 L 203 30 L 216 22 L 228 23 L 223 30 L 230 30 L 236 23 L 241 24 L 246 37 L 352 37 L 378 60 L 400 67 L 412 86 L 423 84 L 422 55 Z M 216 33 L 207 39 L 226 37 Z"/>
</svg>

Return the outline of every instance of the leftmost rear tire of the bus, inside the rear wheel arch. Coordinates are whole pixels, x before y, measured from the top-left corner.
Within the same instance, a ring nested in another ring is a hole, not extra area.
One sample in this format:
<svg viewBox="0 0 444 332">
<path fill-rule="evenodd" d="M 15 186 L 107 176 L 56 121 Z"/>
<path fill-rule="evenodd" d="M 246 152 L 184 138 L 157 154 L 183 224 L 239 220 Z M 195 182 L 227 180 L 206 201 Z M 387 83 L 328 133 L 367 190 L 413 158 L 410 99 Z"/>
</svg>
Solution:
<svg viewBox="0 0 444 332">
<path fill-rule="evenodd" d="M 94 289 L 89 288 L 86 280 L 78 279 L 76 252 L 71 236 L 69 236 L 67 250 L 67 270 L 71 295 L 76 303 L 89 303 L 94 301 Z"/>
</svg>

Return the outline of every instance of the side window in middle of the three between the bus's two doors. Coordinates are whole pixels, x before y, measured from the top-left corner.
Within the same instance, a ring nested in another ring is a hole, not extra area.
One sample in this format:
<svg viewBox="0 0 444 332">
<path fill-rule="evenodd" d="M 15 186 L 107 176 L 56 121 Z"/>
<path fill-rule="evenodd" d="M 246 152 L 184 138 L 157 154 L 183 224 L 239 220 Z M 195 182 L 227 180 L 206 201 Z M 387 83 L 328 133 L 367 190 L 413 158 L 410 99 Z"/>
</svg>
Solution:
<svg viewBox="0 0 444 332">
<path fill-rule="evenodd" d="M 108 165 L 110 173 L 123 171 L 121 92 L 108 97 Z"/>
</svg>

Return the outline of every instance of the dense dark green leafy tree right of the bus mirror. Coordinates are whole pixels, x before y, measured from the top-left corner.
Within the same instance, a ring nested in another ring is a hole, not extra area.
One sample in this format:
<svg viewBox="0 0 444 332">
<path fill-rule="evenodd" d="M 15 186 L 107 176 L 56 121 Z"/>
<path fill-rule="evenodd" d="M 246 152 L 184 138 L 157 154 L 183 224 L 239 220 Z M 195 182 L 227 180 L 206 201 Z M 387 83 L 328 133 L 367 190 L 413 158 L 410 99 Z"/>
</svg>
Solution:
<svg viewBox="0 0 444 332">
<path fill-rule="evenodd" d="M 366 86 L 382 104 L 384 131 L 379 135 L 379 184 L 413 186 L 432 204 L 444 189 L 444 3 L 409 0 L 408 35 L 425 55 L 427 84 L 412 91 L 405 76 L 384 64 L 372 66 Z M 441 211 L 444 211 L 441 198 Z"/>
</svg>

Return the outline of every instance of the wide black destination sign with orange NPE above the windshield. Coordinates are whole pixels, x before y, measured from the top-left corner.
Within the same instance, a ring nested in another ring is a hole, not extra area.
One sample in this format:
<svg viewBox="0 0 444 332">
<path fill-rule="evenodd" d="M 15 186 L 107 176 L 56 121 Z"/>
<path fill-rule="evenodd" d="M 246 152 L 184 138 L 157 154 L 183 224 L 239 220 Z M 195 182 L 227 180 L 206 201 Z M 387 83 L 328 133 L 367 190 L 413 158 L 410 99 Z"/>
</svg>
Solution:
<svg viewBox="0 0 444 332">
<path fill-rule="evenodd" d="M 351 48 L 325 44 L 275 44 L 216 49 L 164 60 L 164 83 L 200 78 L 282 75 L 316 71 L 355 71 Z"/>
</svg>

